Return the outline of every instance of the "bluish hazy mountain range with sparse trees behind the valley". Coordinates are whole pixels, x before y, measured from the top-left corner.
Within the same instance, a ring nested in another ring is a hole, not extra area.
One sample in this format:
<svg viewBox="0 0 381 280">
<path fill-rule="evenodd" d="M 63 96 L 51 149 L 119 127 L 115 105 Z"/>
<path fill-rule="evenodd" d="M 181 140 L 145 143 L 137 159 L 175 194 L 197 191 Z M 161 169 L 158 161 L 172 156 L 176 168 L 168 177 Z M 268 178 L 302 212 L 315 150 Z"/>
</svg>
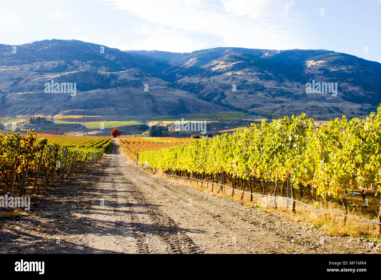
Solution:
<svg viewBox="0 0 381 280">
<path fill-rule="evenodd" d="M 379 77 L 379 62 L 328 50 L 121 51 L 55 39 L 0 44 L 0 114 L 364 117 L 381 102 Z M 46 93 L 51 80 L 76 83 L 77 93 Z M 337 83 L 337 96 L 306 93 L 312 81 Z"/>
</svg>

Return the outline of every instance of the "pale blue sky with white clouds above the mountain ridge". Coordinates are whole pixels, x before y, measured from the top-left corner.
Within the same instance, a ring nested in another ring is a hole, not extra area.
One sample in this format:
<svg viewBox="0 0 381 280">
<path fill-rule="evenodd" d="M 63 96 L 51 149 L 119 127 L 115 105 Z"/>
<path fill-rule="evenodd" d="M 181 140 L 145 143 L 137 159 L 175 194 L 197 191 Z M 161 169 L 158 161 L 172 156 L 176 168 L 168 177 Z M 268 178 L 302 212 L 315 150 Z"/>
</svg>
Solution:
<svg viewBox="0 0 381 280">
<path fill-rule="evenodd" d="M 120 50 L 325 49 L 381 63 L 381 0 L 12 0 L 0 43 L 77 39 Z"/>
</svg>

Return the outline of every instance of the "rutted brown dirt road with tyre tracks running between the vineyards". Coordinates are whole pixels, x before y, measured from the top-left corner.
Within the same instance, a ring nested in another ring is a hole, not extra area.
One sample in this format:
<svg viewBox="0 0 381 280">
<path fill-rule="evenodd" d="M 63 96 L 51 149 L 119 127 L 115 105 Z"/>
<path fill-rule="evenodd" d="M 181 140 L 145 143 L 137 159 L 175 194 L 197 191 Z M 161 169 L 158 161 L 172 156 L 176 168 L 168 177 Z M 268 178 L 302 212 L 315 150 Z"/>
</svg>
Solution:
<svg viewBox="0 0 381 280">
<path fill-rule="evenodd" d="M 362 243 L 152 176 L 114 145 L 91 171 L 0 221 L 0 253 L 367 253 Z"/>
</svg>

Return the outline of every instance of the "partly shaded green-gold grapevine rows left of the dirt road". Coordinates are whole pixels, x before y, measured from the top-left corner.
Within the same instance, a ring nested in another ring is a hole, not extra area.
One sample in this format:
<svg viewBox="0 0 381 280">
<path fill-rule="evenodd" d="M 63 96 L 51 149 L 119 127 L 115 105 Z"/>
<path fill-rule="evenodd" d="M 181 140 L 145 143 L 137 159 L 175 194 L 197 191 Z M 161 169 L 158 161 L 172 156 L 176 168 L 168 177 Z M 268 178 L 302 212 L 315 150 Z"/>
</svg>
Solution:
<svg viewBox="0 0 381 280">
<path fill-rule="evenodd" d="M 28 184 L 32 193 L 64 178 L 90 168 L 111 145 L 110 138 L 37 138 L 35 133 L 0 133 L 0 188 L 13 196 L 15 186 L 19 196 L 25 195 Z M 50 182 L 49 182 L 50 180 Z"/>
</svg>

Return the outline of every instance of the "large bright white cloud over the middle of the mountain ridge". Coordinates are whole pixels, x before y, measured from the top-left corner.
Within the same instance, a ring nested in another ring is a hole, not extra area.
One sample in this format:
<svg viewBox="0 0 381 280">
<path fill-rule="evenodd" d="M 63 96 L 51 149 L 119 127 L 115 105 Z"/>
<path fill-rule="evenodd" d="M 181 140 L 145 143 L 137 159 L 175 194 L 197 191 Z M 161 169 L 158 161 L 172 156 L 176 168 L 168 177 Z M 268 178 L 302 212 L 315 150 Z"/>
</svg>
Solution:
<svg viewBox="0 0 381 280">
<path fill-rule="evenodd" d="M 303 48 L 312 39 L 305 31 L 308 22 L 292 11 L 291 0 L 103 1 L 145 22 L 136 32 L 144 32 L 156 40 L 149 45 L 163 50 L 208 48 L 199 38 L 207 35 L 219 38 L 221 46 L 272 49 Z M 190 37 L 193 32 L 204 36 Z"/>
</svg>

